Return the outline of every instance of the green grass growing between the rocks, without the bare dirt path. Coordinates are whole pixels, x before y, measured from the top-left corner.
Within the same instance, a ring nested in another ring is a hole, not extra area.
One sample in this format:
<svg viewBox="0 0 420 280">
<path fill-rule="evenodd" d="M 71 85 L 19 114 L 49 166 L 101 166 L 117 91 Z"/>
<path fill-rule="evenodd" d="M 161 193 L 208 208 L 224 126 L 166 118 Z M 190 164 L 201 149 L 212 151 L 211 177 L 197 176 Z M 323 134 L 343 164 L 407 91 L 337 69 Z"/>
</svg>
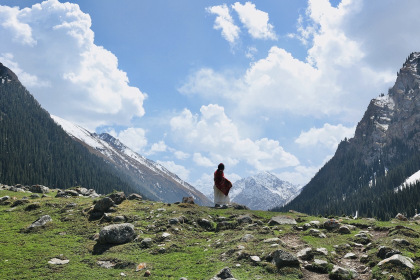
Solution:
<svg viewBox="0 0 420 280">
<path fill-rule="evenodd" d="M 16 193 L 0 190 L 0 196 L 9 195 L 20 199 L 28 193 Z M 310 236 L 309 229 L 296 230 L 296 226 L 278 225 L 263 229 L 274 215 L 284 213 L 252 210 L 236 210 L 232 208 L 214 209 L 197 205 L 171 204 L 153 201 L 124 201 L 116 208 L 111 216 L 125 215 L 134 225 L 139 239 L 150 237 L 153 244 L 150 248 L 141 248 L 139 242 L 130 242 L 121 245 L 103 246 L 90 239 L 92 235 L 110 224 L 100 220 L 89 220 L 89 210 L 93 205 L 91 198 L 51 197 L 30 199 L 39 202 L 40 207 L 34 210 L 25 210 L 26 205 L 17 206 L 10 210 L 9 205 L 0 205 L 0 279 L 142 279 L 144 270 L 135 271 L 137 264 L 146 263 L 146 269 L 151 276 L 147 279 L 209 279 L 224 267 L 229 267 L 237 279 L 301 279 L 302 268 L 283 267 L 278 269 L 275 265 L 264 261 L 264 257 L 274 251 L 270 243 L 264 243 L 267 238 L 288 237 L 298 238 L 299 244 L 311 247 L 325 247 L 328 251 L 337 251 L 338 255 L 345 253 L 343 244 L 349 243 L 349 237 L 358 233 L 339 234 L 320 229 L 327 238 Z M 11 198 L 10 198 L 11 199 Z M 96 199 L 97 200 L 97 199 Z M 75 207 L 66 205 L 74 202 Z M 165 208 L 165 211 L 157 211 Z M 52 222 L 42 228 L 26 231 L 25 228 L 38 217 L 49 214 Z M 218 217 L 226 217 L 226 221 L 235 223 L 235 217 L 249 214 L 254 221 L 260 220 L 262 225 L 248 227 L 247 224 L 238 225 L 234 229 L 218 232 L 207 231 L 195 225 L 198 219 L 205 218 L 216 225 Z M 311 220 L 320 220 L 318 217 L 307 216 L 300 213 L 287 213 L 294 217 L 298 224 L 303 225 Z M 185 223 L 170 225 L 168 219 L 183 216 Z M 345 223 L 357 224 L 367 228 L 393 228 L 396 224 L 404 224 L 420 232 L 418 224 L 380 222 L 369 220 L 343 220 Z M 151 226 L 152 225 L 152 226 Z M 168 232 L 168 240 L 163 240 L 161 234 Z M 240 241 L 246 233 L 254 236 L 249 242 Z M 409 247 L 401 248 L 403 255 L 412 257 L 415 261 L 420 258 L 418 238 L 404 236 L 404 231 L 384 238 L 383 244 L 390 246 L 390 240 L 405 238 L 412 242 Z M 162 245 L 164 244 L 164 245 Z M 162 245 L 162 246 L 158 246 Z M 245 249 L 239 253 L 237 245 Z M 336 247 L 335 245 L 338 245 Z M 375 247 L 376 244 L 373 246 Z M 164 247 L 166 252 L 159 253 L 158 249 Z M 281 246 L 281 249 L 292 251 L 293 248 Z M 341 249 L 341 250 L 340 250 Z M 375 258 L 375 249 L 370 255 Z M 257 255 L 262 260 L 253 262 L 249 256 Z M 69 259 L 64 265 L 49 264 L 53 257 Z M 331 255 L 323 256 L 315 253 L 316 258 L 333 262 Z M 108 260 L 115 263 L 113 268 L 103 268 L 97 265 L 98 260 Z M 375 259 L 378 261 L 378 259 Z M 417 267 L 417 266 L 416 266 Z M 405 273 L 405 272 L 404 272 Z"/>
</svg>

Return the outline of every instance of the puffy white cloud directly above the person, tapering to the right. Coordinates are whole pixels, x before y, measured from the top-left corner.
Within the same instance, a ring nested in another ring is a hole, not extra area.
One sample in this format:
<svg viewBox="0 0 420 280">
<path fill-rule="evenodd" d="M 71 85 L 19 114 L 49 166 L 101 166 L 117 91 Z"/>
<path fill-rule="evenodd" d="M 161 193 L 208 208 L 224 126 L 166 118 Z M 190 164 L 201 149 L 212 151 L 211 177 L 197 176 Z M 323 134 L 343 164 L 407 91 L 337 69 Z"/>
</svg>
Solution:
<svg viewBox="0 0 420 280">
<path fill-rule="evenodd" d="M 186 143 L 185 148 L 207 152 L 210 162 L 235 164 L 246 162 L 258 170 L 273 170 L 285 166 L 294 166 L 298 159 L 286 152 L 279 142 L 261 138 L 251 140 L 239 135 L 236 125 L 224 113 L 224 108 L 217 104 L 201 106 L 200 115 L 184 109 L 170 120 L 171 130 L 179 142 Z M 197 156 L 202 160 L 202 155 Z M 202 162 L 202 161 L 201 161 Z"/>
</svg>

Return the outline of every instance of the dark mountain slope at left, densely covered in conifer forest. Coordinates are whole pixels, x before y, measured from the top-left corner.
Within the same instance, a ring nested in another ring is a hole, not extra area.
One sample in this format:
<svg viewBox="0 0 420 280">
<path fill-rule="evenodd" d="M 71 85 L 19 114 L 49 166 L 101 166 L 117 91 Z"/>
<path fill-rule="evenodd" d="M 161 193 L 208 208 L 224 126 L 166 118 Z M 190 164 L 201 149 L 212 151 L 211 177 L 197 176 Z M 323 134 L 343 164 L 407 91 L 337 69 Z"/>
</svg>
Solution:
<svg viewBox="0 0 420 280">
<path fill-rule="evenodd" d="M 74 141 L 0 63 L 0 181 L 51 188 L 82 185 L 132 193 L 134 182 Z"/>
</svg>

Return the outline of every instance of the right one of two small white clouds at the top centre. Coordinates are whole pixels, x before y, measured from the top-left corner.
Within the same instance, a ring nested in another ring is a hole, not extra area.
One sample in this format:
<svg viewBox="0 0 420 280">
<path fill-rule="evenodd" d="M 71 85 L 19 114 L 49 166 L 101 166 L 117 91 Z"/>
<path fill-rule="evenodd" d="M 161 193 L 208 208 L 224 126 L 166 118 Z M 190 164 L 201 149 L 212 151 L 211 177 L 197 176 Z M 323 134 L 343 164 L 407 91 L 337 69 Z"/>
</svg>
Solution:
<svg viewBox="0 0 420 280">
<path fill-rule="evenodd" d="M 268 13 L 256 9 L 255 4 L 246 2 L 242 5 L 235 2 L 232 8 L 239 15 L 240 21 L 248 29 L 248 33 L 255 39 L 271 39 L 276 40 L 277 35 L 274 31 L 274 26 L 268 23 Z"/>
</svg>

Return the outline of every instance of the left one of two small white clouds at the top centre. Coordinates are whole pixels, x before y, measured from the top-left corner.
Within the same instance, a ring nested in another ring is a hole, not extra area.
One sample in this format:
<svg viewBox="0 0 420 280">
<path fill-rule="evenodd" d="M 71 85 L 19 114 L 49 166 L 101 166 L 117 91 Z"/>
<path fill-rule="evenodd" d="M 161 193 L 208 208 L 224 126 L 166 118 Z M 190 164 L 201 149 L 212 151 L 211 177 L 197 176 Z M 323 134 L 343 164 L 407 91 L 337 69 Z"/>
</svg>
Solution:
<svg viewBox="0 0 420 280">
<path fill-rule="evenodd" d="M 210 6 L 205 8 L 208 13 L 216 14 L 213 28 L 221 29 L 221 35 L 229 42 L 230 46 L 234 46 L 239 39 L 240 29 L 234 24 L 233 18 L 229 13 L 229 8 L 226 4 L 218 6 Z"/>
</svg>

